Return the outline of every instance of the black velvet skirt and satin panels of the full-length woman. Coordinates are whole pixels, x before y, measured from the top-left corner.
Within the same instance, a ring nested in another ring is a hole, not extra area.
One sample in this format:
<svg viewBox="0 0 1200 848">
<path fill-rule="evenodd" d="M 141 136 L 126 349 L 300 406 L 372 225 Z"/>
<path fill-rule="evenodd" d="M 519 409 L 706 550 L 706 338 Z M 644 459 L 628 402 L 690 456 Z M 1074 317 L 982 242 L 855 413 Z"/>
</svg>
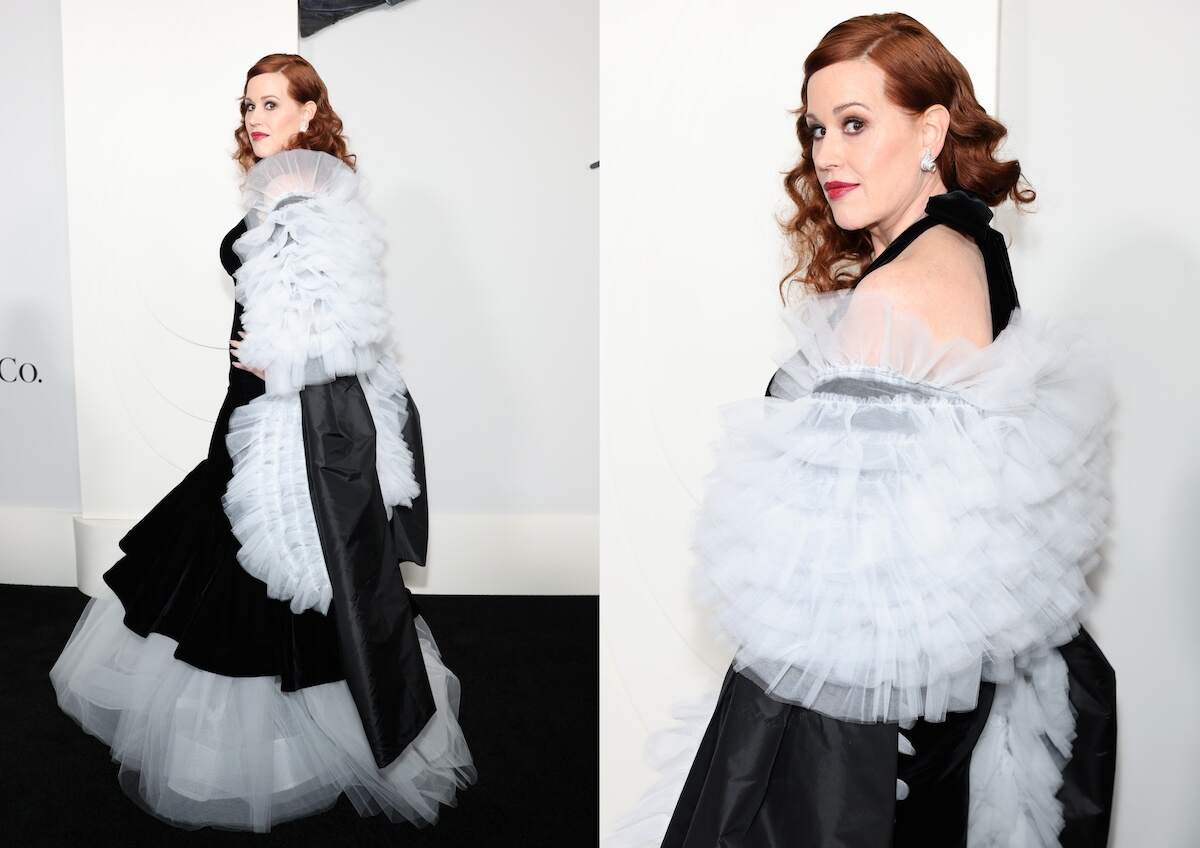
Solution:
<svg viewBox="0 0 1200 848">
<path fill-rule="evenodd" d="M 236 329 L 236 327 L 235 327 Z M 434 712 L 416 637 L 416 599 L 398 563 L 425 564 L 428 539 L 424 445 L 412 397 L 403 437 L 421 494 L 386 517 L 376 433 L 356 377 L 300 392 L 308 488 L 334 588 L 329 614 L 293 613 L 238 563 L 239 542 L 221 504 L 233 463 L 224 438 L 233 411 L 263 393 L 260 379 L 230 369 L 209 455 L 119 542 L 104 582 L 125 625 L 174 639 L 175 657 L 227 676 L 280 678 L 284 692 L 346 680 L 380 768 Z"/>
</svg>

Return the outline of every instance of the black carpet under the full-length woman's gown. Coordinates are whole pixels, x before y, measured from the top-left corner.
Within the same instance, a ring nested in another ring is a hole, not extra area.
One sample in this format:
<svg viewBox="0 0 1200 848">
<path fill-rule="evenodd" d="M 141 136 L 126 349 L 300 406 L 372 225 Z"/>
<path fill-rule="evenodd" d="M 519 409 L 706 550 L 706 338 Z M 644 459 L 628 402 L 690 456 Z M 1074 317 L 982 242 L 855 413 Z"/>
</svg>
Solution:
<svg viewBox="0 0 1200 848">
<path fill-rule="evenodd" d="M 179 830 L 116 784 L 108 747 L 58 708 L 48 672 L 86 603 L 76 589 L 0 585 L 0 834 L 10 846 L 595 846 L 595 596 L 419 595 L 462 682 L 479 782 L 432 828 L 332 810 L 269 834 Z"/>
</svg>

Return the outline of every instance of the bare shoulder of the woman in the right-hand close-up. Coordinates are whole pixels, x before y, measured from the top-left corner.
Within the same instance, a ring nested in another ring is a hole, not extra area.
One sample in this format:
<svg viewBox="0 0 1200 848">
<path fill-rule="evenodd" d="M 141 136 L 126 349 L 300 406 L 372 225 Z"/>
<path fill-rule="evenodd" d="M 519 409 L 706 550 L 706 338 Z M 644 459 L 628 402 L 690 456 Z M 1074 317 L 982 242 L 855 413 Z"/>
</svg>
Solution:
<svg viewBox="0 0 1200 848">
<path fill-rule="evenodd" d="M 904 253 L 871 271 L 856 290 L 884 295 L 920 315 L 934 335 L 962 336 L 978 347 L 991 342 L 988 273 L 974 240 L 934 227 Z"/>
</svg>

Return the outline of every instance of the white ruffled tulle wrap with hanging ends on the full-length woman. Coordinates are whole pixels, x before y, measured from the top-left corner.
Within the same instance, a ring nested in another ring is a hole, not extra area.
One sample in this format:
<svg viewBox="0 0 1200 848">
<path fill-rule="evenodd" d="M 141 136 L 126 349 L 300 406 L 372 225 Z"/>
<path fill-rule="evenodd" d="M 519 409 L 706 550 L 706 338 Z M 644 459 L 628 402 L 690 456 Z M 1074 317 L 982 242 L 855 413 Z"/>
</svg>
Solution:
<svg viewBox="0 0 1200 848">
<path fill-rule="evenodd" d="M 230 416 L 233 477 L 222 505 L 241 566 L 293 612 L 324 614 L 332 589 L 310 500 L 300 391 L 356 374 L 388 518 L 420 494 L 403 437 L 407 389 L 391 353 L 382 227 L 359 199 L 354 172 L 312 150 L 259 161 L 244 203 L 250 229 L 234 242 L 246 330 L 238 359 L 265 369 L 266 392 Z"/>
</svg>

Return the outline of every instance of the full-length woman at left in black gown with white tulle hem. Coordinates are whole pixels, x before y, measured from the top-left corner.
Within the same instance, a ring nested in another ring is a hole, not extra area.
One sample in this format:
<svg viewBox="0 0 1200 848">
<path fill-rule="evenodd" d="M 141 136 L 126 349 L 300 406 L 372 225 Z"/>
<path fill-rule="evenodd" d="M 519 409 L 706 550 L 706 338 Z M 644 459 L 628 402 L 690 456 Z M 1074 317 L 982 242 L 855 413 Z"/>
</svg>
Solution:
<svg viewBox="0 0 1200 848">
<path fill-rule="evenodd" d="M 380 225 L 302 58 L 247 73 L 229 390 L 209 455 L 120 541 L 50 670 L 126 793 L 269 830 L 346 793 L 422 825 L 475 778 L 458 681 L 404 588 L 427 537 L 420 419 Z"/>
</svg>

